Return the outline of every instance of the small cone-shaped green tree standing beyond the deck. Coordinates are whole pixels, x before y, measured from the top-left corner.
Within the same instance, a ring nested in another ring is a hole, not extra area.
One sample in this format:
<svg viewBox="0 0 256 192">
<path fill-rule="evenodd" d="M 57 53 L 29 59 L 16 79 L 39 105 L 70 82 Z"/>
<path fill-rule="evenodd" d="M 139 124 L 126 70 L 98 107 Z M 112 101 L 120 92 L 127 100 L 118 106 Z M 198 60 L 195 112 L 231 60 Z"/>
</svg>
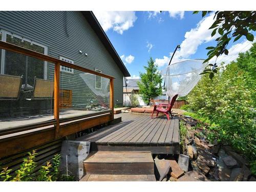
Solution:
<svg viewBox="0 0 256 192">
<path fill-rule="evenodd" d="M 150 99 L 162 94 L 162 77 L 157 71 L 157 65 L 152 57 L 147 61 L 147 67 L 144 66 L 145 73 L 140 72 L 141 82 L 138 82 L 140 88 L 139 94 L 142 100 L 149 104 Z"/>
</svg>

